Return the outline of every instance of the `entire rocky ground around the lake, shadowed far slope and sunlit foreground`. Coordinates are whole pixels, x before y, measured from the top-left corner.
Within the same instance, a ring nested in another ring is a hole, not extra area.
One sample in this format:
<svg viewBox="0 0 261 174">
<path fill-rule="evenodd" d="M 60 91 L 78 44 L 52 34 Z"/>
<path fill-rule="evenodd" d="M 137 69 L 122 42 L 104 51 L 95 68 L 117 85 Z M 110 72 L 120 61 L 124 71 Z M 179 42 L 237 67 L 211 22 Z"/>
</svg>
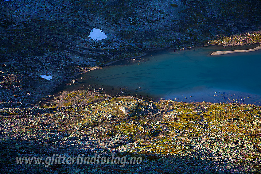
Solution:
<svg viewBox="0 0 261 174">
<path fill-rule="evenodd" d="M 41 99 L 79 73 L 150 50 L 261 43 L 259 1 L 0 4 L 1 173 L 260 173 L 260 106 L 148 102 L 92 91 Z M 107 38 L 92 40 L 92 28 Z M 124 168 L 15 163 L 16 156 L 53 153 L 143 160 Z"/>
</svg>

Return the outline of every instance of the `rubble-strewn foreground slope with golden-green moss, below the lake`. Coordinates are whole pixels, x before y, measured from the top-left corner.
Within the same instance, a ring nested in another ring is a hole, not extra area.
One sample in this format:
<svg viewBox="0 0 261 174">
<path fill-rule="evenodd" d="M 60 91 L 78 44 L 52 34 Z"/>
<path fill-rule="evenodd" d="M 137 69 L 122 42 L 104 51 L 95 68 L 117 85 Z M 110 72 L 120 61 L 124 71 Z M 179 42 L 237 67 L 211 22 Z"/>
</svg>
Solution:
<svg viewBox="0 0 261 174">
<path fill-rule="evenodd" d="M 258 173 L 261 107 L 148 102 L 93 91 L 63 92 L 30 108 L 1 109 L 2 172 Z M 16 156 L 102 153 L 142 163 L 16 164 Z M 204 171 L 201 171 L 204 169 Z M 96 170 L 96 171 L 95 171 Z M 222 171 L 222 172 L 221 172 Z"/>
</svg>

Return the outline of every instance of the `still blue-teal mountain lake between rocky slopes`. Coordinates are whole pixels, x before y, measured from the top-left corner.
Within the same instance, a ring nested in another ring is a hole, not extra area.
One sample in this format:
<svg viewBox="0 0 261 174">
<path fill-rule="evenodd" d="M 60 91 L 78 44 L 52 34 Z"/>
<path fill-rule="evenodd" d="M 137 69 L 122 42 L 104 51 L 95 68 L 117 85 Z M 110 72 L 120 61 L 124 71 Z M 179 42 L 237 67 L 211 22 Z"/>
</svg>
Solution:
<svg viewBox="0 0 261 174">
<path fill-rule="evenodd" d="M 77 85 L 68 83 L 64 90 L 95 89 L 144 99 L 260 105 L 261 50 L 210 56 L 214 51 L 255 46 L 150 52 L 137 60 L 122 60 L 80 75 Z"/>
</svg>

